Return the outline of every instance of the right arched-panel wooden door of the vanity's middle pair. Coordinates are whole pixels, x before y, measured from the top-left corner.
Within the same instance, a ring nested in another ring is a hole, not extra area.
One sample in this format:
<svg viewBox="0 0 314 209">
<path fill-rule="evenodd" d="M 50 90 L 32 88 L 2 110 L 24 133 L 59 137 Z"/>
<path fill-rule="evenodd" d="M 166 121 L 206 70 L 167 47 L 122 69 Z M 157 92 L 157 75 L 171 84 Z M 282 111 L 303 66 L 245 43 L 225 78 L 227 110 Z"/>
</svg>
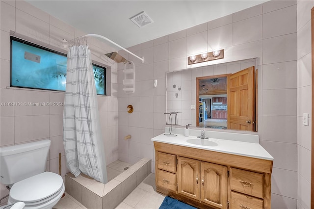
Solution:
<svg viewBox="0 0 314 209">
<path fill-rule="evenodd" d="M 201 201 L 227 209 L 227 166 L 201 162 Z"/>
</svg>

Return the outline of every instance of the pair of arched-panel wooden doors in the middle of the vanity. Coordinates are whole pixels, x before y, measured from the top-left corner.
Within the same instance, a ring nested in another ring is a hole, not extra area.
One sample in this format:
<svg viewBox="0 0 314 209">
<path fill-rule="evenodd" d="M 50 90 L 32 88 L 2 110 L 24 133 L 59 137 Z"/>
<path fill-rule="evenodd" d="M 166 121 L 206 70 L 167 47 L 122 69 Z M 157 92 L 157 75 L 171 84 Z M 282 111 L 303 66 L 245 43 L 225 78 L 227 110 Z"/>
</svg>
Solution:
<svg viewBox="0 0 314 209">
<path fill-rule="evenodd" d="M 178 193 L 224 208 L 223 203 L 227 203 L 227 166 L 179 156 Z"/>
</svg>

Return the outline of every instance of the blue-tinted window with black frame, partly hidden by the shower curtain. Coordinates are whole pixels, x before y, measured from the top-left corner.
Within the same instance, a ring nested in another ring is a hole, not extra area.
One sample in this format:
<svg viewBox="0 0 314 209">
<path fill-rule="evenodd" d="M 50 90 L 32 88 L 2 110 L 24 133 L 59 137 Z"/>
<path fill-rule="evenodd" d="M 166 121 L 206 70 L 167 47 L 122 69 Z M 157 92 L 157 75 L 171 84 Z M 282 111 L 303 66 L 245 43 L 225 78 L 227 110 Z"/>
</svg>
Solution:
<svg viewBox="0 0 314 209">
<path fill-rule="evenodd" d="M 106 68 L 93 64 L 96 91 L 105 95 Z M 66 54 L 11 37 L 10 86 L 65 91 Z"/>
</svg>

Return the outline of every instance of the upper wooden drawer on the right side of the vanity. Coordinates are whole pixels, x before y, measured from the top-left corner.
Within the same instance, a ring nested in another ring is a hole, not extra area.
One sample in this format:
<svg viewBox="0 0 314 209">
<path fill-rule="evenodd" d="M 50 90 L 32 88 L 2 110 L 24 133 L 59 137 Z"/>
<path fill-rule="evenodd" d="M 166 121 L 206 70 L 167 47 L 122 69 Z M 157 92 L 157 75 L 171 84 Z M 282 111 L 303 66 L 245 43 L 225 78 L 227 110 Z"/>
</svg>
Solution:
<svg viewBox="0 0 314 209">
<path fill-rule="evenodd" d="M 251 171 L 231 168 L 231 190 L 263 198 L 263 175 Z"/>
</svg>

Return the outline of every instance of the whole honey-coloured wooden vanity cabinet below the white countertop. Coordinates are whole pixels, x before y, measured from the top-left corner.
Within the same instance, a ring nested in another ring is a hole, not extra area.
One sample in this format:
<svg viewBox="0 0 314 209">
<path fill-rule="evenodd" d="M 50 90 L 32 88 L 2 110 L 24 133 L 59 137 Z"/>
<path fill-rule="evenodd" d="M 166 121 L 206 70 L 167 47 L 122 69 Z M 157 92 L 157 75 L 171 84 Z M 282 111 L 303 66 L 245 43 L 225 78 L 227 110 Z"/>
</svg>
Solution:
<svg viewBox="0 0 314 209">
<path fill-rule="evenodd" d="M 270 209 L 272 160 L 154 141 L 157 192 L 196 208 Z"/>
</svg>

